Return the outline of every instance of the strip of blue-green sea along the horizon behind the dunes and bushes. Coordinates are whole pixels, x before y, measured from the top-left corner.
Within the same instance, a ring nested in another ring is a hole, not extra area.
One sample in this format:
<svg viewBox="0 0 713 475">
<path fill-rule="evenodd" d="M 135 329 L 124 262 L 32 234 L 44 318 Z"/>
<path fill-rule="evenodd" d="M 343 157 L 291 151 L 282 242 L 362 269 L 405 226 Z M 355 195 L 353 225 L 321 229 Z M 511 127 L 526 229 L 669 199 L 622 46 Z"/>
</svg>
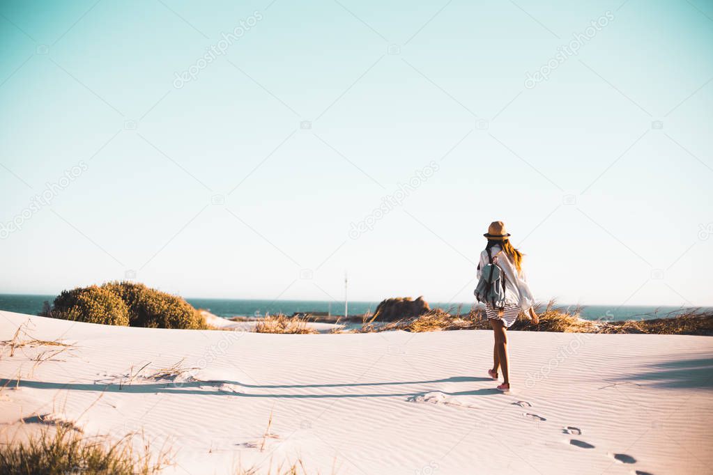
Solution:
<svg viewBox="0 0 713 475">
<path fill-rule="evenodd" d="M 0 310 L 36 315 L 42 310 L 43 303 L 52 303 L 56 296 L 0 294 Z M 289 300 L 242 300 L 233 298 L 186 298 L 195 308 L 204 308 L 220 317 L 235 315 L 262 317 L 275 313 L 292 315 L 295 312 L 324 312 L 332 315 L 344 315 L 344 302 L 334 301 L 289 301 Z M 430 302 L 431 308 L 443 308 L 456 313 L 468 313 L 473 303 L 438 303 Z M 374 312 L 379 302 L 349 302 L 349 315 L 364 315 Z M 575 306 L 558 305 L 558 308 Z M 711 307 L 706 310 L 713 310 Z M 588 320 L 640 320 L 674 316 L 682 313 L 683 307 L 655 306 L 585 306 L 581 315 Z"/>
</svg>

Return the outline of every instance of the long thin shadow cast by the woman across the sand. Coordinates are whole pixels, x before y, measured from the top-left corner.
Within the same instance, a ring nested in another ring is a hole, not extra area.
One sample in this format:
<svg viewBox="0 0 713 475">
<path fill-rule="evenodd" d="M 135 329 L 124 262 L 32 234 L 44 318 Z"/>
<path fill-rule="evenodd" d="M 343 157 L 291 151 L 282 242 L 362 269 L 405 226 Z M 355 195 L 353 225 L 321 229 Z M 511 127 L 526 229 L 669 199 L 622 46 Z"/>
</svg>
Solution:
<svg viewBox="0 0 713 475">
<path fill-rule="evenodd" d="M 240 397 L 275 397 L 284 399 L 324 399 L 324 398 L 349 398 L 349 397 L 411 397 L 422 395 L 424 392 L 438 390 L 438 388 L 424 388 L 417 392 L 384 392 L 384 393 L 354 393 L 354 394 L 250 394 L 235 390 L 221 390 L 222 385 L 240 386 L 251 389 L 309 389 L 322 387 L 368 387 L 368 386 L 393 386 L 393 385 L 431 385 L 453 382 L 492 382 L 488 377 L 453 376 L 441 380 L 424 381 L 399 381 L 399 382 L 353 382 L 334 383 L 324 385 L 249 385 L 240 381 L 210 380 L 190 382 L 160 382 L 150 384 L 118 384 L 118 383 L 76 383 L 76 382 L 45 382 L 31 380 L 0 379 L 0 387 L 32 387 L 41 390 L 71 390 L 71 391 L 97 391 L 97 392 L 126 392 L 126 393 L 163 393 L 176 395 L 230 395 Z M 206 387 L 215 387 L 216 390 L 206 390 Z M 443 392 L 448 396 L 485 396 L 500 394 L 493 388 L 478 390 Z"/>
</svg>

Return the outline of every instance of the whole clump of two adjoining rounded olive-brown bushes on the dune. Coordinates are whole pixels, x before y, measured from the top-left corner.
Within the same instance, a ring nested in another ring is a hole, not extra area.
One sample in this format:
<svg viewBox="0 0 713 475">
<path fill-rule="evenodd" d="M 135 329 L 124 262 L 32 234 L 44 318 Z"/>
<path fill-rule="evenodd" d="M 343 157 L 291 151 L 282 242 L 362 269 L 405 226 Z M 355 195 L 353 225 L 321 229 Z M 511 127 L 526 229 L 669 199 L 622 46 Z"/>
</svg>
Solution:
<svg viewBox="0 0 713 475">
<path fill-rule="evenodd" d="M 109 282 L 101 287 L 63 291 L 48 316 L 133 327 L 208 328 L 203 315 L 183 298 L 133 282 Z"/>
</svg>

